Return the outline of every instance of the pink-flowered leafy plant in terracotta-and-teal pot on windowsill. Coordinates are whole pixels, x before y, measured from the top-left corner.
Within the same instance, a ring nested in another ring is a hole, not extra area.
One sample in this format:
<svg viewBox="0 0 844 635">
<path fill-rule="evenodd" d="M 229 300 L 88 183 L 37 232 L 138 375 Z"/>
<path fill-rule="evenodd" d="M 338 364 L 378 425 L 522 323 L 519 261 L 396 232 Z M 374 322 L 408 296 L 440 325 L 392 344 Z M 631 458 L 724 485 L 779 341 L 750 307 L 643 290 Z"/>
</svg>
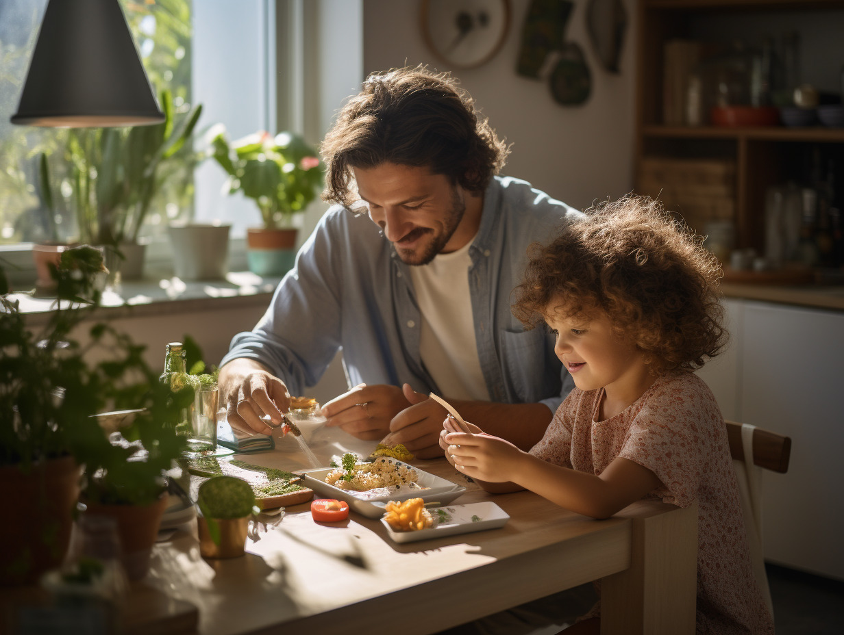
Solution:
<svg viewBox="0 0 844 635">
<path fill-rule="evenodd" d="M 211 133 L 214 159 L 229 175 L 229 192 L 243 192 L 261 212 L 262 228 L 247 229 L 249 269 L 282 276 L 293 267 L 297 213 L 305 211 L 322 187 L 322 162 L 301 137 L 256 132 L 230 143 L 225 127 Z"/>
</svg>

